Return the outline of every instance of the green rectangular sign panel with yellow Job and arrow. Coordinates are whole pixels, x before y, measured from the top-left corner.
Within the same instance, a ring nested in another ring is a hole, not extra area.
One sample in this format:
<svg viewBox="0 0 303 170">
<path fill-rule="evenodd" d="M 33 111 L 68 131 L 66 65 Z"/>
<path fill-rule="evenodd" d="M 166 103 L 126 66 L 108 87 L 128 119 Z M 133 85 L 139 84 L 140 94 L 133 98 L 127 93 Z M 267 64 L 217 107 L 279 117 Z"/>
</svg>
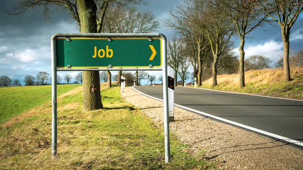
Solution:
<svg viewBox="0 0 303 170">
<path fill-rule="evenodd" d="M 155 68 L 162 66 L 160 38 L 58 38 L 57 67 Z"/>
</svg>

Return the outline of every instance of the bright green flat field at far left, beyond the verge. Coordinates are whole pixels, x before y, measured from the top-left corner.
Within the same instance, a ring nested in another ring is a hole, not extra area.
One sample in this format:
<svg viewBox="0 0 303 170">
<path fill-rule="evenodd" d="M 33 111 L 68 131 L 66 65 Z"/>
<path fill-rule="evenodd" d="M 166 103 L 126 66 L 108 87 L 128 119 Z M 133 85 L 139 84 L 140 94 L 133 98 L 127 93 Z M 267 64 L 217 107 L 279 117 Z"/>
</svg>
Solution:
<svg viewBox="0 0 303 170">
<path fill-rule="evenodd" d="M 58 85 L 58 96 L 81 85 Z M 0 124 L 35 106 L 52 100 L 52 86 L 0 88 Z"/>
</svg>

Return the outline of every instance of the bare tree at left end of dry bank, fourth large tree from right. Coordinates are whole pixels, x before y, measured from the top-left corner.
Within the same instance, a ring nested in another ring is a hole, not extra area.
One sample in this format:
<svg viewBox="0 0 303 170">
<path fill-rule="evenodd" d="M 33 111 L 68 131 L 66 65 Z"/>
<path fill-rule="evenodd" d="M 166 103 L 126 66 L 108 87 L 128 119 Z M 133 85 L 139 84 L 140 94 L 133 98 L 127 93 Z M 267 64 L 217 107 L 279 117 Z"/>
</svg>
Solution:
<svg viewBox="0 0 303 170">
<path fill-rule="evenodd" d="M 186 39 L 185 42 L 189 44 L 187 45 L 188 49 L 192 49 L 189 56 L 197 77 L 198 86 L 201 85 L 203 64 L 208 53 L 205 49 L 209 45 L 204 34 L 203 25 L 199 24 L 201 22 L 197 22 L 204 18 L 199 9 L 203 8 L 204 4 L 195 0 L 183 0 L 182 3 L 177 4 L 176 9 L 169 11 L 171 17 L 165 20 L 168 27 L 173 28 L 176 33 Z M 196 47 L 194 44 L 196 44 Z"/>
</svg>

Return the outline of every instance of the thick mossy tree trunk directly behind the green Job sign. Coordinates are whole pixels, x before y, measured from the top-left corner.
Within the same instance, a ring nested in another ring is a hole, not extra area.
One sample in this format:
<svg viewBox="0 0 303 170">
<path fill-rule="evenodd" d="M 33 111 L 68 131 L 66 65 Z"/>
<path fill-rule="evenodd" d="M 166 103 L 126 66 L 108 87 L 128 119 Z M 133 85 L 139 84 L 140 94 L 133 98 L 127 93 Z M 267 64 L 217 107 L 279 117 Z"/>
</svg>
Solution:
<svg viewBox="0 0 303 170">
<path fill-rule="evenodd" d="M 77 0 L 81 33 L 97 32 L 96 11 L 93 0 Z M 98 71 L 83 71 L 83 111 L 103 108 Z"/>
</svg>

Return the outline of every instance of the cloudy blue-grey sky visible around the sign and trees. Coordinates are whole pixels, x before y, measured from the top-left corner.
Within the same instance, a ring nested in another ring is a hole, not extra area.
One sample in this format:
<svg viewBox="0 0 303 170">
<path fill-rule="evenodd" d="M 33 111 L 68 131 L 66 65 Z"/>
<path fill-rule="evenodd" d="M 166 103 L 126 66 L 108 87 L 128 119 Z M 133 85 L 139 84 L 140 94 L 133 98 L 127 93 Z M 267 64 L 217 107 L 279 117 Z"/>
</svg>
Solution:
<svg viewBox="0 0 303 170">
<path fill-rule="evenodd" d="M 0 8 L 12 10 L 12 4 L 18 0 L 0 1 Z M 156 19 L 169 18 L 168 10 L 176 6 L 181 0 L 153 0 L 147 1 L 148 5 L 139 5 L 140 10 L 150 9 Z M 51 37 L 55 33 L 78 33 L 78 25 L 71 16 L 62 12 L 53 12 L 51 20 L 45 20 L 36 10 L 27 10 L 18 16 L 9 16 L 0 9 L 0 77 L 5 75 L 12 80 L 19 79 L 24 85 L 24 77 L 45 71 L 51 74 Z M 248 34 L 245 41 L 245 57 L 250 55 L 264 55 L 272 60 L 271 67 L 283 56 L 283 43 L 280 27 L 267 26 L 258 28 Z M 303 17 L 297 19 L 291 28 L 290 48 L 294 51 L 303 49 Z M 168 40 L 174 36 L 173 30 L 160 23 L 157 30 L 163 33 Z M 233 38 L 234 51 L 238 55 L 238 39 Z M 63 78 L 70 74 L 73 78 L 79 72 L 58 72 Z M 113 72 L 112 75 L 117 74 Z M 160 71 L 148 72 L 157 77 L 162 75 Z M 73 82 L 74 79 L 71 81 Z M 146 81 L 146 82 L 145 82 Z M 189 80 L 188 80 L 189 81 Z M 64 82 L 64 81 L 63 81 Z M 141 84 L 147 80 L 141 80 Z M 156 83 L 159 83 L 157 81 Z"/>
</svg>

